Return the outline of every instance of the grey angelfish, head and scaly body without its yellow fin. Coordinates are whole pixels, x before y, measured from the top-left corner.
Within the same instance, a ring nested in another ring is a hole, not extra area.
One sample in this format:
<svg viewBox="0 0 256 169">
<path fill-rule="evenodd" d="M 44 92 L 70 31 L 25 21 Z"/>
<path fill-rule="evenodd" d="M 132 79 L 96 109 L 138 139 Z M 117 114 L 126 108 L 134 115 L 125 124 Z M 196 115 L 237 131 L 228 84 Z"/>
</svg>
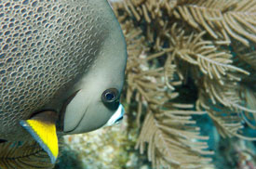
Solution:
<svg viewBox="0 0 256 169">
<path fill-rule="evenodd" d="M 61 135 L 122 116 L 126 43 L 106 0 L 2 0 L 0 26 L 0 139 L 32 139 L 22 122 L 45 111 Z"/>
</svg>

